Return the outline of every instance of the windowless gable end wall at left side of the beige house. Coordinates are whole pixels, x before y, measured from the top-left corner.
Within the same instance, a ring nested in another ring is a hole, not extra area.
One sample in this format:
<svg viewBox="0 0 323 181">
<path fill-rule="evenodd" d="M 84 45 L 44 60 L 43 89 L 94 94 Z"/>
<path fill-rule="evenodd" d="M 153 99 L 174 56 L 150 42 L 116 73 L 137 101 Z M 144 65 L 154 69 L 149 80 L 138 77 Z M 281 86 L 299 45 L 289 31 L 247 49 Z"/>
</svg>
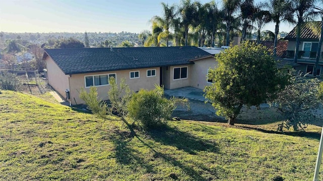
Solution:
<svg viewBox="0 0 323 181">
<path fill-rule="evenodd" d="M 59 66 L 48 56 L 45 59 L 47 67 L 48 84 L 53 87 L 63 98 L 66 98 L 66 89 L 70 89 L 69 75 L 65 75 Z"/>
</svg>

